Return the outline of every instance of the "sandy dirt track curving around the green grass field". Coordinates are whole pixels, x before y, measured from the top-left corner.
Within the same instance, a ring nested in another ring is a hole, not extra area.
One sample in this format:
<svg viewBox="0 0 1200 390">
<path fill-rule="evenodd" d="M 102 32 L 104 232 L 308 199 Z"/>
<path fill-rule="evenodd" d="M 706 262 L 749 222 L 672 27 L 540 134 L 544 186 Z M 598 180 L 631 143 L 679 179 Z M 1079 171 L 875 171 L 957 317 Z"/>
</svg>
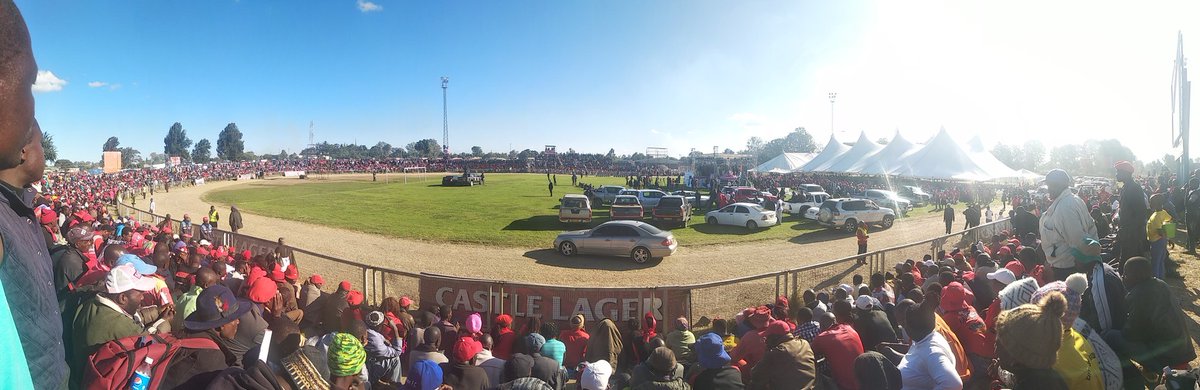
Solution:
<svg viewBox="0 0 1200 390">
<path fill-rule="evenodd" d="M 370 180 L 370 175 L 328 178 L 328 180 L 364 179 Z M 282 185 L 306 181 L 278 179 L 278 182 Z M 245 185 L 245 182 L 221 181 L 199 187 L 173 188 L 170 193 L 156 192 L 157 210 L 160 214 L 169 212 L 175 218 L 180 218 L 187 212 L 193 217 L 193 221 L 199 222 L 209 209 L 209 204 L 202 200 L 205 192 L 238 185 Z M 144 208 L 145 204 L 145 200 L 139 199 L 140 208 Z M 223 217 L 221 228 L 226 228 L 224 217 L 229 214 L 228 205 L 218 204 L 217 209 Z M 940 216 L 941 214 L 912 216 L 898 221 L 890 229 L 872 232 L 871 248 L 896 246 L 940 235 L 943 232 Z M 388 238 L 247 212 L 242 212 L 242 217 L 246 226 L 242 233 L 264 239 L 284 236 L 289 244 L 296 247 L 355 259 L 366 264 L 378 264 L 413 272 L 563 286 L 619 287 L 706 282 L 780 271 L 803 264 L 841 258 L 854 254 L 858 248 L 852 235 L 826 230 L 802 234 L 797 230 L 797 236 L 786 241 L 707 246 L 686 246 L 684 242 L 684 246 L 672 257 L 661 262 L 637 265 L 625 258 L 592 256 L 564 258 L 548 248 L 551 242 L 546 242 L 546 247 L 542 248 L 430 242 Z"/>
</svg>

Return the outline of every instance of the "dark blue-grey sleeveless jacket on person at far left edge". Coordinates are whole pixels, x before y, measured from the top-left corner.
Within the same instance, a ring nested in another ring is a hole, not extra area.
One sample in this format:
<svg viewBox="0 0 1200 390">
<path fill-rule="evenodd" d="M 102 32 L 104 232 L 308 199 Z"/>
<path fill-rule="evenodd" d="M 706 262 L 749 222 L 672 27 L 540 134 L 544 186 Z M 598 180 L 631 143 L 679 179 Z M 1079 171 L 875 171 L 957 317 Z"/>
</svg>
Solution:
<svg viewBox="0 0 1200 390">
<path fill-rule="evenodd" d="M 62 389 L 68 372 L 62 317 L 54 293 L 53 263 L 35 221 L 32 202 L 32 190 L 18 193 L 0 185 L 0 239 L 4 240 L 0 282 L 34 388 Z"/>
</svg>

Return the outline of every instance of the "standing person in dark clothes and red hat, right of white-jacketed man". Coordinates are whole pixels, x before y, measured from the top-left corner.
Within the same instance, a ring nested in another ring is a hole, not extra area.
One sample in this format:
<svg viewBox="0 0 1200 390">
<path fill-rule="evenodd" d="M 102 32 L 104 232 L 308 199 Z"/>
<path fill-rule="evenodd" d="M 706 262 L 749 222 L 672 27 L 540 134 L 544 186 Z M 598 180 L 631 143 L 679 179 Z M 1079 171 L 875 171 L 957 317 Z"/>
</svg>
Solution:
<svg viewBox="0 0 1200 390">
<path fill-rule="evenodd" d="M 1117 181 L 1121 181 L 1117 246 L 1121 250 L 1118 260 L 1123 265 L 1132 257 L 1144 256 L 1150 247 L 1145 234 L 1146 221 L 1150 220 L 1150 212 L 1146 210 L 1150 208 L 1150 202 L 1146 199 L 1146 191 L 1142 191 L 1141 185 L 1133 178 L 1133 163 L 1122 160 L 1112 168 L 1116 170 Z M 1045 240 L 1044 234 L 1043 240 Z"/>
</svg>

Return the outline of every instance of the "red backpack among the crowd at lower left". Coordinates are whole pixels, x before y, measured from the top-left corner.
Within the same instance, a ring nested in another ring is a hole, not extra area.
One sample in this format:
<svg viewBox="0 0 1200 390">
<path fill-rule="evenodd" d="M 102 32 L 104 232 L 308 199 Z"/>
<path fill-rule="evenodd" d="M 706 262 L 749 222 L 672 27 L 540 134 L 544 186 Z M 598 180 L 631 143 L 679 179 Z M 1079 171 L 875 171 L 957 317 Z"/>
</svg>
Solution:
<svg viewBox="0 0 1200 390">
<path fill-rule="evenodd" d="M 220 349 L 209 338 L 176 338 L 172 335 L 138 335 L 109 341 L 88 358 L 84 367 L 84 388 L 89 390 L 124 390 L 130 385 L 133 372 L 145 361 L 154 359 L 150 385 L 157 389 L 167 376 L 167 366 L 180 348 Z"/>
</svg>

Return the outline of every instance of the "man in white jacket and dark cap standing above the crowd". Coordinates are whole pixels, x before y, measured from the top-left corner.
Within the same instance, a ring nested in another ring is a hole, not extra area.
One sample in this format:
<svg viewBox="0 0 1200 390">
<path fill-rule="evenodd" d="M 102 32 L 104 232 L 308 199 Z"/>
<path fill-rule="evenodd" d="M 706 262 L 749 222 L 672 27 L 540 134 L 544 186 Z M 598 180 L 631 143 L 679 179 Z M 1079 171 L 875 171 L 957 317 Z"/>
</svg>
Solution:
<svg viewBox="0 0 1200 390">
<path fill-rule="evenodd" d="M 1074 272 L 1072 248 L 1082 250 L 1084 238 L 1096 239 L 1096 222 L 1087 204 L 1070 191 L 1070 175 L 1062 169 L 1046 173 L 1046 190 L 1052 202 L 1042 214 L 1042 251 L 1046 254 L 1048 281 L 1062 281 Z"/>
</svg>

